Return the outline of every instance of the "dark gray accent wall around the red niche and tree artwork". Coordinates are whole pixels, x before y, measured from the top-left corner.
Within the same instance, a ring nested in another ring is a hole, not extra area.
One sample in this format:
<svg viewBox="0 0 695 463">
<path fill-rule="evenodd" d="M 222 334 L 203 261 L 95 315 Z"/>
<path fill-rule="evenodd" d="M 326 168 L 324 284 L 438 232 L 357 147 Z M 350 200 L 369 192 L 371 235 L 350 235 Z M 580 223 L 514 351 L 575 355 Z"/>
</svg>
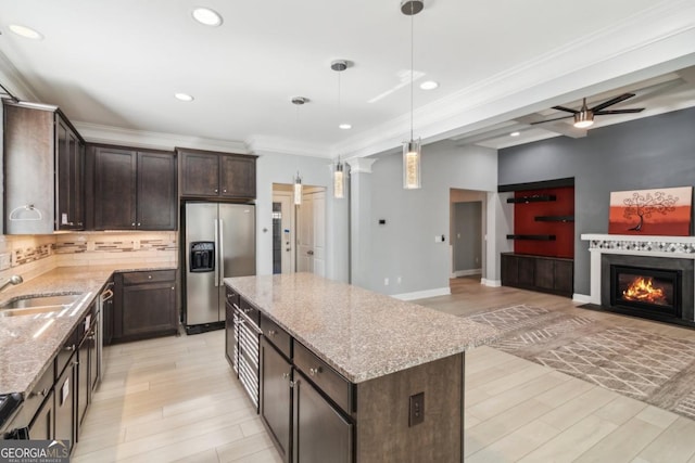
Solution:
<svg viewBox="0 0 695 463">
<path fill-rule="evenodd" d="M 580 235 L 607 233 L 610 192 L 695 184 L 695 108 L 500 150 L 498 169 L 500 184 L 574 177 L 574 293 L 589 295 Z"/>
</svg>

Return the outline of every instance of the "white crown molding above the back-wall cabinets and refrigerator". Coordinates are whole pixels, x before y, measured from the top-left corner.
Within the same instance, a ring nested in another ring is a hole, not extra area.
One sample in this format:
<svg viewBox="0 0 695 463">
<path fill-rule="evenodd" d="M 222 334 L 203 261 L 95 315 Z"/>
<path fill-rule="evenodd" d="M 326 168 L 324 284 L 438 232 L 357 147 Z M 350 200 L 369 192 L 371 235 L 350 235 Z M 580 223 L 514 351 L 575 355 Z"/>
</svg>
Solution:
<svg viewBox="0 0 695 463">
<path fill-rule="evenodd" d="M 237 141 L 124 129 L 80 121 L 74 121 L 73 125 L 86 141 L 92 143 L 127 144 L 155 150 L 174 150 L 176 146 L 186 146 L 197 150 L 249 154 L 247 145 Z"/>
</svg>

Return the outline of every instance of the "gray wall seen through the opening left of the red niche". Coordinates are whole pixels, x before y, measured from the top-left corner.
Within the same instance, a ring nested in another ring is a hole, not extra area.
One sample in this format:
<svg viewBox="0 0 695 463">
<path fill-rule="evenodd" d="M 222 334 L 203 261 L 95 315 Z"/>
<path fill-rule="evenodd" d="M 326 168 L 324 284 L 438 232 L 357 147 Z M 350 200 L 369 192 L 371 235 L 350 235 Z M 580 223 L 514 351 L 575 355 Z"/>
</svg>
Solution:
<svg viewBox="0 0 695 463">
<path fill-rule="evenodd" d="M 476 270 L 482 262 L 482 202 L 454 203 L 454 271 Z"/>
</svg>

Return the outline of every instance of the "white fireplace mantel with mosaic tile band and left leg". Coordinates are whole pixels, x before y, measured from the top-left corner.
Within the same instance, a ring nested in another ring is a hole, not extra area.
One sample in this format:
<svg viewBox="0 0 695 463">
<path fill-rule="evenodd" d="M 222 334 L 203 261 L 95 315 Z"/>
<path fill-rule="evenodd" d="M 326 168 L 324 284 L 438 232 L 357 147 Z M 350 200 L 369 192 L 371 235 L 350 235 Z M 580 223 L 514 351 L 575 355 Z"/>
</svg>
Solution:
<svg viewBox="0 0 695 463">
<path fill-rule="evenodd" d="M 595 305 L 601 305 L 602 254 L 695 259 L 695 236 L 583 233 L 581 239 L 589 242 L 589 252 L 591 253 L 591 294 L 589 303 Z"/>
</svg>

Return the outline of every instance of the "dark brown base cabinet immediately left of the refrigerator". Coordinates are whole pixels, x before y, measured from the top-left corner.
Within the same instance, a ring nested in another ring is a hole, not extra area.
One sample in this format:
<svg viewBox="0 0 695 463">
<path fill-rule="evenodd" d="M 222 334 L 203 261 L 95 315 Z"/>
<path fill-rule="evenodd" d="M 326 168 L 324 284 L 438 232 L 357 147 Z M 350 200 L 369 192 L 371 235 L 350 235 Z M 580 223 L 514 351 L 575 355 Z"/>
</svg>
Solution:
<svg viewBox="0 0 695 463">
<path fill-rule="evenodd" d="M 117 273 L 114 283 L 112 342 L 176 333 L 175 270 Z"/>
</svg>

